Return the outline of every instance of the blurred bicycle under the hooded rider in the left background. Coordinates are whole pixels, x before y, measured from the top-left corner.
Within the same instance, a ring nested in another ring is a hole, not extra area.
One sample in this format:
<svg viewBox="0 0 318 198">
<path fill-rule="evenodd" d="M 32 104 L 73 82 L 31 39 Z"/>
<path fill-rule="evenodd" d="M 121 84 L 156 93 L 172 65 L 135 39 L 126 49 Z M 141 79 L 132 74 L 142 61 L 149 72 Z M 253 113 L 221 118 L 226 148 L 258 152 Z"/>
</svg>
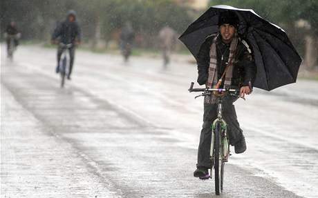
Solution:
<svg viewBox="0 0 318 198">
<path fill-rule="evenodd" d="M 59 43 L 60 48 L 62 48 L 63 52 L 61 55 L 61 59 L 59 60 L 59 74 L 61 76 L 61 88 L 64 88 L 65 77 L 68 75 L 70 68 L 70 57 L 68 54 L 68 49 L 73 47 L 73 43 L 64 44 Z"/>
</svg>

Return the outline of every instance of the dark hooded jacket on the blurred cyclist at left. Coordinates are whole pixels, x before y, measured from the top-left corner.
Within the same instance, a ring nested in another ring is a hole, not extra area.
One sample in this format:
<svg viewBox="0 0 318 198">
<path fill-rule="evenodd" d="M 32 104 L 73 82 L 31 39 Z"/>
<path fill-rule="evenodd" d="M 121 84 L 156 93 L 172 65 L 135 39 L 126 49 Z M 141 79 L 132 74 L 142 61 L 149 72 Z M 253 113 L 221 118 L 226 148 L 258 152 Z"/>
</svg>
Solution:
<svg viewBox="0 0 318 198">
<path fill-rule="evenodd" d="M 75 12 L 68 12 L 66 21 L 60 23 L 57 28 L 55 28 L 52 34 L 52 40 L 59 38 L 60 41 L 64 44 L 74 43 L 75 39 L 76 41 L 81 41 L 81 29 L 79 27 L 79 24 L 76 20 L 74 22 L 68 21 L 68 17 L 71 14 L 76 19 Z"/>
</svg>

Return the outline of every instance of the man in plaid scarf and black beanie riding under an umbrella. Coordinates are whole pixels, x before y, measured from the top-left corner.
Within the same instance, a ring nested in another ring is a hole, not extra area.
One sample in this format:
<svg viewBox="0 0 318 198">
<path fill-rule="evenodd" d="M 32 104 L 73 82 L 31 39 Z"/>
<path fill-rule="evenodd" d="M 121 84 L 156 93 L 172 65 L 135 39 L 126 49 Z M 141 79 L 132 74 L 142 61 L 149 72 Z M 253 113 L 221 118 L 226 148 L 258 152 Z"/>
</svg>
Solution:
<svg viewBox="0 0 318 198">
<path fill-rule="evenodd" d="M 256 66 L 250 47 L 237 34 L 238 17 L 235 12 L 225 11 L 218 19 L 218 34 L 209 35 L 198 52 L 198 83 L 209 88 L 239 89 L 241 97 L 252 92 Z M 220 79 L 224 81 L 219 81 Z M 236 153 L 246 150 L 245 137 L 236 117 L 235 97 L 223 99 L 223 118 L 227 125 L 230 144 Z M 198 146 L 198 164 L 194 177 L 208 175 L 211 167 L 209 159 L 212 121 L 217 117 L 217 104 L 214 95 L 205 96 L 203 128 Z"/>
</svg>

